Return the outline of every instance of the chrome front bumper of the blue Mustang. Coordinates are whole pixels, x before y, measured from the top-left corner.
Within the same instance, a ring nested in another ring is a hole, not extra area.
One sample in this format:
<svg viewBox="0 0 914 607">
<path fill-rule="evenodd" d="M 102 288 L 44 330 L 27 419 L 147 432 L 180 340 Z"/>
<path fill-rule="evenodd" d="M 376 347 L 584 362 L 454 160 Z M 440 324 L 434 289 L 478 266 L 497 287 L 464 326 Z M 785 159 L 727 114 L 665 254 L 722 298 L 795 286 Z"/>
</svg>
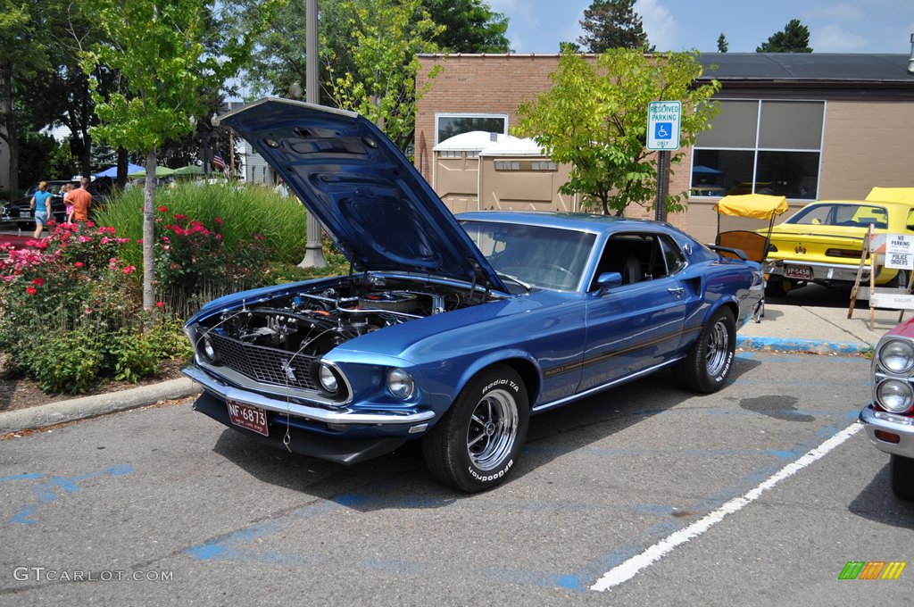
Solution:
<svg viewBox="0 0 914 607">
<path fill-rule="evenodd" d="M 251 392 L 250 390 L 229 386 L 228 384 L 219 381 L 217 378 L 211 377 L 197 367 L 184 367 L 181 372 L 188 378 L 201 384 L 207 392 L 217 396 L 219 399 L 237 400 L 276 413 L 288 413 L 292 417 L 303 418 L 305 420 L 345 425 L 388 425 L 421 423 L 435 417 L 433 411 L 409 412 L 389 410 L 377 413 L 363 413 L 348 407 L 341 407 L 338 410 L 309 407 L 287 400 L 263 396 L 257 392 Z M 421 430 L 424 430 L 424 428 L 421 428 Z"/>
</svg>

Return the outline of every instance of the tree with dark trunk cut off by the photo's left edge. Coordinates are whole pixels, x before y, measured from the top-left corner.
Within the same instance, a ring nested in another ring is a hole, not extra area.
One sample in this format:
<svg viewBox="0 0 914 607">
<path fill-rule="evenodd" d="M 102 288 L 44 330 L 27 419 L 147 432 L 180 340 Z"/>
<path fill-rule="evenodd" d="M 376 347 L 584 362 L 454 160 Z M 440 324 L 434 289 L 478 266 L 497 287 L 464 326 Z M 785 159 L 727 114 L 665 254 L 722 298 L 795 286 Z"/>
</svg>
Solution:
<svg viewBox="0 0 914 607">
<path fill-rule="evenodd" d="M 19 195 L 19 141 L 17 94 L 48 66 L 47 48 L 38 35 L 28 2 L 0 0 L 0 139 L 9 147 L 9 190 Z"/>
</svg>

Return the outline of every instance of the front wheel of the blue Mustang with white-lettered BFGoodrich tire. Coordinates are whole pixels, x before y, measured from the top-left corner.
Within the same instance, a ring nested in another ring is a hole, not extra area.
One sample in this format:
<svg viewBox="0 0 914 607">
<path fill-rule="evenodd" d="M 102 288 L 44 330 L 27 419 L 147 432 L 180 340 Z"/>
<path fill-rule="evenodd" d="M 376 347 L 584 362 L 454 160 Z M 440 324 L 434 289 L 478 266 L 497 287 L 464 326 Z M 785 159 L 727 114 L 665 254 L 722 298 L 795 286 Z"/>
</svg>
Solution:
<svg viewBox="0 0 914 607">
<path fill-rule="evenodd" d="M 422 440 L 430 473 L 468 493 L 498 485 L 524 446 L 528 418 L 526 387 L 515 370 L 484 369 Z"/>
</svg>

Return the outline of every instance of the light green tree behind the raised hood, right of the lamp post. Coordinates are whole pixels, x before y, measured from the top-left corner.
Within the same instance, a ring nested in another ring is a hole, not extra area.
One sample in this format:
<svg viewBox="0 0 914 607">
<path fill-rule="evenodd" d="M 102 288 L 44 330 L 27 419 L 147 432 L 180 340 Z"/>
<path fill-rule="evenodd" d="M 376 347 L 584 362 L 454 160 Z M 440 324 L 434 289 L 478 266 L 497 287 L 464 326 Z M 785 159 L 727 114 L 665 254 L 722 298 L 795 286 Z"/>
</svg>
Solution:
<svg viewBox="0 0 914 607">
<path fill-rule="evenodd" d="M 440 67 L 416 90 L 420 53 L 438 50 L 433 42 L 444 27 L 430 19 L 421 0 L 352 0 L 349 14 L 351 71 L 331 70 L 327 90 L 335 104 L 375 122 L 402 149 L 412 140 L 416 101 L 429 91 Z M 328 57 L 330 65 L 334 57 Z"/>
</svg>

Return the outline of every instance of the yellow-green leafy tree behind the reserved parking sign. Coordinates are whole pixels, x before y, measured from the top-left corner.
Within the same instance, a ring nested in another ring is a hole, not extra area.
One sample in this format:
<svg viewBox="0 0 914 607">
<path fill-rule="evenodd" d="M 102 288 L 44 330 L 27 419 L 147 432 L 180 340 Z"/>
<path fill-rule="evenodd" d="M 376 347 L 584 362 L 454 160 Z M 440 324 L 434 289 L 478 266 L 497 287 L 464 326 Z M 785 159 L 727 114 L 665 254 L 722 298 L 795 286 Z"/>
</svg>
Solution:
<svg viewBox="0 0 914 607">
<path fill-rule="evenodd" d="M 718 110 L 710 100 L 720 83 L 696 83 L 702 74 L 696 55 L 646 58 L 640 49 L 614 48 L 593 65 L 564 53 L 558 71 L 550 74 L 555 86 L 521 103 L 514 132 L 534 137 L 553 160 L 571 165 L 569 182 L 559 191 L 583 194 L 585 207 L 620 216 L 631 203 L 650 207 L 657 161 L 645 148 L 648 103 L 682 101 L 682 150 L 695 143 Z M 672 165 L 684 154 L 672 153 Z M 666 209 L 683 210 L 684 194 L 671 193 Z"/>
</svg>

